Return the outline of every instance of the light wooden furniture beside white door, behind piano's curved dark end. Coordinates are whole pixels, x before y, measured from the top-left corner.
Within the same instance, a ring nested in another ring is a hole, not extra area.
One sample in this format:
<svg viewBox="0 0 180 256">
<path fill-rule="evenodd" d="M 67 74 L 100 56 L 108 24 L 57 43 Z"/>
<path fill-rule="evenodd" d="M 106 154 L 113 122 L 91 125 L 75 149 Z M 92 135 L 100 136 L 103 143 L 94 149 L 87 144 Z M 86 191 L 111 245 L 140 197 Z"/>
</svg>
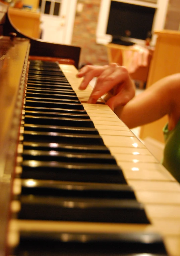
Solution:
<svg viewBox="0 0 180 256">
<path fill-rule="evenodd" d="M 40 38 L 40 15 L 38 12 L 9 8 L 9 17 L 16 29 L 29 37 Z"/>
</svg>

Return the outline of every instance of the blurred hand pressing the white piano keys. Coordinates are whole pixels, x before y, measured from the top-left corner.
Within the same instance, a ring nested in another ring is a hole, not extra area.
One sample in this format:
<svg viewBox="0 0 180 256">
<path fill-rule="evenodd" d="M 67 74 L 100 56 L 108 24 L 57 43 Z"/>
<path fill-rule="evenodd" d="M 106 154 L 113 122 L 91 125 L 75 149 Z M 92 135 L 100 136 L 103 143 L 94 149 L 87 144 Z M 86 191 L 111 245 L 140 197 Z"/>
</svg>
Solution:
<svg viewBox="0 0 180 256">
<path fill-rule="evenodd" d="M 126 105 L 135 95 L 135 85 L 127 69 L 115 63 L 107 66 L 87 65 L 76 76 L 84 77 L 79 86 L 80 90 L 84 90 L 93 77 L 98 77 L 87 103 L 96 103 L 101 96 L 110 92 L 111 98 L 106 104 L 114 110 L 118 106 Z"/>
</svg>

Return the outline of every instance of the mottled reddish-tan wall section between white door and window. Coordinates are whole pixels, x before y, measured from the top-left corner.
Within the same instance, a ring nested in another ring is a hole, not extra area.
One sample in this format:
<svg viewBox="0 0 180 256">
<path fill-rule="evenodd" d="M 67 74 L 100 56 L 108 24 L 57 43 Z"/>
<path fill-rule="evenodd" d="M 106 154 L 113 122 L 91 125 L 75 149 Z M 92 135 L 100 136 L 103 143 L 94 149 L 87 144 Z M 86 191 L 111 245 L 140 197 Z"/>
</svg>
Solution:
<svg viewBox="0 0 180 256">
<path fill-rule="evenodd" d="M 78 0 L 83 4 L 82 12 L 76 12 L 72 45 L 81 47 L 80 65 L 108 64 L 107 50 L 104 45 L 96 44 L 96 26 L 101 0 Z"/>
</svg>

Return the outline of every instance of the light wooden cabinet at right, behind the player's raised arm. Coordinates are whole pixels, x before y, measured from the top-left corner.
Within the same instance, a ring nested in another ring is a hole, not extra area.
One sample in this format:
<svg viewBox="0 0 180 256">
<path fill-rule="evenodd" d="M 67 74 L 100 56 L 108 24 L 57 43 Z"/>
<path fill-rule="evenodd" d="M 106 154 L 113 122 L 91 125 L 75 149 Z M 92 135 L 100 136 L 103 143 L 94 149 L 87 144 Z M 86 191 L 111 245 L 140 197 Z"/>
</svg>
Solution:
<svg viewBox="0 0 180 256">
<path fill-rule="evenodd" d="M 155 34 L 158 38 L 146 87 L 165 76 L 180 72 L 180 32 L 163 30 L 155 31 Z M 151 137 L 164 142 L 162 129 L 167 120 L 167 116 L 165 116 L 156 122 L 143 125 L 140 130 L 140 138 Z"/>
</svg>

